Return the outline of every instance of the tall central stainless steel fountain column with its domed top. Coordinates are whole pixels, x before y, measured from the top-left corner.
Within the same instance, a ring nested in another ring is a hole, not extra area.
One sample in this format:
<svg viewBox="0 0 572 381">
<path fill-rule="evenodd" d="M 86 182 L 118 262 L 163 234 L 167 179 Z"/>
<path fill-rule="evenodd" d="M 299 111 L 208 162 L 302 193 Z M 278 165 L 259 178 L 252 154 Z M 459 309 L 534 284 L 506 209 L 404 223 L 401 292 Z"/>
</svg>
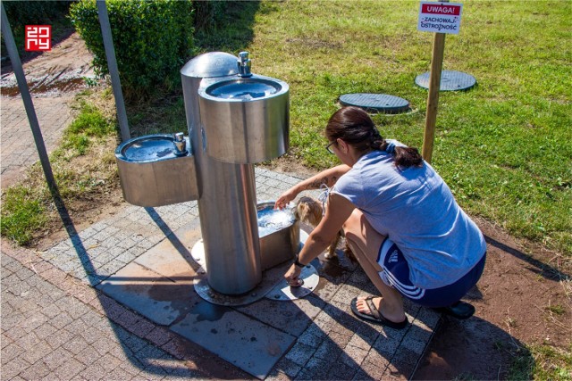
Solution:
<svg viewBox="0 0 572 381">
<path fill-rule="evenodd" d="M 206 155 L 198 107 L 203 79 L 214 81 L 237 72 L 237 57 L 222 52 L 198 55 L 181 69 L 187 126 L 197 166 L 206 276 L 209 286 L 222 294 L 247 293 L 262 280 L 254 166 L 219 162 Z"/>
</svg>

